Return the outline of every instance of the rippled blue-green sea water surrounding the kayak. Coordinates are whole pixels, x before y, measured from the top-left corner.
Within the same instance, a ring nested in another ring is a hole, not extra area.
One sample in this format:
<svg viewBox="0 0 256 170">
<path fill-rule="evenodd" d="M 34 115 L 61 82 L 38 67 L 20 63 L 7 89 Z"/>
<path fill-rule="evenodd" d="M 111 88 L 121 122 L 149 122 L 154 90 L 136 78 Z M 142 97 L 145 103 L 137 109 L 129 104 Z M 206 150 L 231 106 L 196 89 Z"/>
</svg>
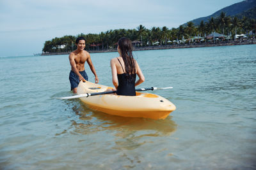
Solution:
<svg viewBox="0 0 256 170">
<path fill-rule="evenodd" d="M 256 169 L 256 45 L 134 52 L 177 107 L 124 118 L 71 96 L 68 55 L 0 57 L 0 169 Z M 92 53 L 104 85 L 110 59 Z M 89 80 L 94 77 L 88 65 Z"/>
</svg>

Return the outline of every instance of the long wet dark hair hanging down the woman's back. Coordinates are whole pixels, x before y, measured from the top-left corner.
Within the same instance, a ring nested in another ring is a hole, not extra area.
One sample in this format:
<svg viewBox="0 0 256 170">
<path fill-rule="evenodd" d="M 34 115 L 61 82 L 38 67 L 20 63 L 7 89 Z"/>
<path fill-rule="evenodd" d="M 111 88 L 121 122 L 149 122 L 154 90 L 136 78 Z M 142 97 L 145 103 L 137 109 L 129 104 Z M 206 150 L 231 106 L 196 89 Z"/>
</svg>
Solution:
<svg viewBox="0 0 256 170">
<path fill-rule="evenodd" d="M 125 73 L 128 80 L 133 80 L 132 74 L 136 73 L 136 62 L 132 55 L 132 41 L 128 38 L 120 38 L 118 40 L 118 46 L 120 48 L 121 57 L 125 64 Z"/>
</svg>

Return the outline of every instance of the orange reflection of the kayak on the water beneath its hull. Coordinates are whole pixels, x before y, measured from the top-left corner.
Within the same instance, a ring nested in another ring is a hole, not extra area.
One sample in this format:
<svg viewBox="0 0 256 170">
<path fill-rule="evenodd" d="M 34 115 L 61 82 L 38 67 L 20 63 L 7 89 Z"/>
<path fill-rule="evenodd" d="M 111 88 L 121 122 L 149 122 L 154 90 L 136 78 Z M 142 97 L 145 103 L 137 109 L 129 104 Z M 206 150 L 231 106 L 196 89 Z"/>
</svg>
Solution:
<svg viewBox="0 0 256 170">
<path fill-rule="evenodd" d="M 118 131 L 120 133 L 131 133 L 134 131 L 148 131 L 150 133 L 143 134 L 142 136 L 169 136 L 172 132 L 175 131 L 177 125 L 171 117 L 167 117 L 164 120 L 152 120 L 149 118 L 128 118 L 128 117 L 118 117 L 114 115 L 108 115 L 100 111 L 92 111 L 83 103 L 81 103 L 81 111 L 77 114 L 80 115 L 80 119 L 83 119 L 88 113 L 93 118 L 97 118 L 97 126 L 100 127 L 101 131 Z M 118 133 L 118 135 L 120 135 Z"/>
</svg>

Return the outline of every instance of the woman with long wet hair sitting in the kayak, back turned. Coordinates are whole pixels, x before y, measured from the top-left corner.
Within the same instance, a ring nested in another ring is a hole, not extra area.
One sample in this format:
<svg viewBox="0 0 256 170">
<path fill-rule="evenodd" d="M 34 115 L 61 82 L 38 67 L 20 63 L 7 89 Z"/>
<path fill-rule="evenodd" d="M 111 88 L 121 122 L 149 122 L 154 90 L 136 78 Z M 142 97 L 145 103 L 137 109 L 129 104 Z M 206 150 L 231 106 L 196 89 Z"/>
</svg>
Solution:
<svg viewBox="0 0 256 170">
<path fill-rule="evenodd" d="M 132 42 L 128 38 L 118 40 L 119 57 L 111 59 L 112 81 L 117 95 L 136 96 L 135 86 L 145 81 L 138 62 L 132 55 Z M 139 80 L 136 81 L 136 74 Z"/>
</svg>

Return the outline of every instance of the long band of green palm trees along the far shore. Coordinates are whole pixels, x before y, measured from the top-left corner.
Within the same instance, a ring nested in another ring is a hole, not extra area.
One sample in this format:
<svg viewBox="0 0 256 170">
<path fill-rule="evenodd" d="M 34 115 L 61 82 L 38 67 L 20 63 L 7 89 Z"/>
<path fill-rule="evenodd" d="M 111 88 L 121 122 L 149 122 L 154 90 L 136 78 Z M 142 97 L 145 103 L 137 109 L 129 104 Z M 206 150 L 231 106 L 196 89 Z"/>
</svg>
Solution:
<svg viewBox="0 0 256 170">
<path fill-rule="evenodd" d="M 71 52 L 76 50 L 76 38 L 83 36 L 86 39 L 86 50 L 108 50 L 116 48 L 119 38 L 127 37 L 132 41 L 138 40 L 141 46 L 151 46 L 154 42 L 159 45 L 166 45 L 168 41 L 178 39 L 189 39 L 193 36 L 204 37 L 212 32 L 223 35 L 246 34 L 252 32 L 255 35 L 256 21 L 254 18 L 237 18 L 221 13 L 216 18 L 210 18 L 208 22 L 201 21 L 199 25 L 193 22 L 180 25 L 178 28 L 168 29 L 168 27 L 152 27 L 147 29 L 139 25 L 136 29 L 115 29 L 99 34 L 78 34 L 77 36 L 63 36 L 45 41 L 43 52 Z"/>
</svg>

